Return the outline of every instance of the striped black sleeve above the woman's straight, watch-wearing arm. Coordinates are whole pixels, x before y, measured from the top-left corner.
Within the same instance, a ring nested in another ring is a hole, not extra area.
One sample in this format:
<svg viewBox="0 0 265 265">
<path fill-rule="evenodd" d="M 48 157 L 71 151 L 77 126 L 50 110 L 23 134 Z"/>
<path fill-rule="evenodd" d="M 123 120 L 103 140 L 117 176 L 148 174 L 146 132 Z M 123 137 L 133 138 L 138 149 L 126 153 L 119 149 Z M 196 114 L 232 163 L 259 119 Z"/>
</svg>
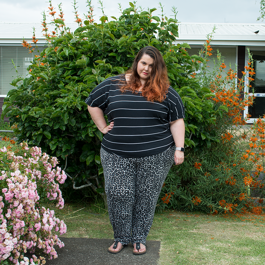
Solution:
<svg viewBox="0 0 265 265">
<path fill-rule="evenodd" d="M 169 87 L 167 95 L 170 104 L 168 120 L 174 121 L 178 119 L 184 119 L 185 118 L 184 105 L 178 93 L 172 87 Z"/>
</svg>

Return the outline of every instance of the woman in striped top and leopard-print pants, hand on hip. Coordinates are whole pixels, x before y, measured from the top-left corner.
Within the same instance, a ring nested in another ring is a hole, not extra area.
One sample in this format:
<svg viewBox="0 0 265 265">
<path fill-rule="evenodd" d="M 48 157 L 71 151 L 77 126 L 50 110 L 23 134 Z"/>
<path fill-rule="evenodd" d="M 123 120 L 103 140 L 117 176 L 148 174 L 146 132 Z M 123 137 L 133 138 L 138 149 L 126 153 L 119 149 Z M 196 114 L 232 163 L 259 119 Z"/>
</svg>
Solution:
<svg viewBox="0 0 265 265">
<path fill-rule="evenodd" d="M 118 253 L 131 242 L 133 254 L 144 254 L 164 180 L 173 162 L 184 160 L 183 103 L 152 46 L 140 50 L 125 75 L 95 87 L 86 103 L 105 134 L 100 155 L 115 238 L 108 251 Z"/>
</svg>

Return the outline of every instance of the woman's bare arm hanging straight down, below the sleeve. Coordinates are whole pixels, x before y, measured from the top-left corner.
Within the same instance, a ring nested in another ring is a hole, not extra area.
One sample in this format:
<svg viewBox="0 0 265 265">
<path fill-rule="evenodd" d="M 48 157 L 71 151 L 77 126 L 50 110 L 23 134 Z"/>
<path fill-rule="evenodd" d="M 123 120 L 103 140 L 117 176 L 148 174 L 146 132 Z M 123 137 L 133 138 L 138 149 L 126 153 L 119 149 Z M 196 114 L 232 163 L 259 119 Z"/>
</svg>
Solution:
<svg viewBox="0 0 265 265">
<path fill-rule="evenodd" d="M 169 122 L 170 132 L 173 136 L 176 147 L 184 147 L 185 138 L 185 123 L 184 119 L 174 120 Z M 184 161 L 184 153 L 176 150 L 174 154 L 174 160 L 176 165 L 180 165 Z"/>
</svg>

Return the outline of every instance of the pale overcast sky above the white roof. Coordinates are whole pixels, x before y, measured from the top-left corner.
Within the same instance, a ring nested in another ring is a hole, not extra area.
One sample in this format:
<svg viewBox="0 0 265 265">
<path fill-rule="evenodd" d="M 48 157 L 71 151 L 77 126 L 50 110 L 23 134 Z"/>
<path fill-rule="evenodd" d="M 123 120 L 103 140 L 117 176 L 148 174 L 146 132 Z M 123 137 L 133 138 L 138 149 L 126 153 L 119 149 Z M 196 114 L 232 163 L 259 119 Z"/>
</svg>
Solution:
<svg viewBox="0 0 265 265">
<path fill-rule="evenodd" d="M 86 0 L 76 0 L 78 14 L 83 18 L 83 14 L 87 12 Z M 132 1 L 132 0 L 130 0 Z M 261 23 L 257 21 L 259 17 L 260 0 L 222 0 L 222 1 L 198 1 L 198 0 L 160 0 L 164 6 L 164 14 L 170 18 L 173 15 L 172 6 L 177 7 L 177 19 L 179 22 L 210 22 L 210 23 Z M 73 0 L 52 0 L 52 6 L 58 11 L 58 4 L 62 3 L 64 11 L 64 19 L 67 24 L 74 22 Z M 110 16 L 119 17 L 120 11 L 118 4 L 122 9 L 130 7 L 127 0 L 103 0 L 105 15 L 112 20 Z M 153 15 L 161 14 L 159 1 L 137 1 L 136 6 L 141 6 L 142 9 L 157 8 Z M 47 16 L 49 13 L 48 0 L 0 0 L 0 22 L 41 22 L 42 11 L 45 11 Z M 102 11 L 99 9 L 100 4 L 97 0 L 92 0 L 94 6 L 94 14 L 96 22 L 102 16 Z M 59 13 L 59 12 L 58 12 Z M 55 15 L 56 16 L 56 15 Z M 264 22 L 265 23 L 265 22 Z"/>
</svg>

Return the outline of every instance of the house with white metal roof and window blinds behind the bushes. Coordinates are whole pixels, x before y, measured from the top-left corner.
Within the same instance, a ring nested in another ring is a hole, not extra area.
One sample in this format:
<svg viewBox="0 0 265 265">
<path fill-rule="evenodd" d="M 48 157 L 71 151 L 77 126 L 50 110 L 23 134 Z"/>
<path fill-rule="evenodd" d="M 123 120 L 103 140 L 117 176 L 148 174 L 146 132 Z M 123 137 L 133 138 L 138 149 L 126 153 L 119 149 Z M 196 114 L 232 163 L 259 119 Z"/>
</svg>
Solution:
<svg viewBox="0 0 265 265">
<path fill-rule="evenodd" d="M 67 26 L 74 31 L 78 24 Z M 212 57 L 215 57 L 214 54 L 218 49 L 225 57 L 226 65 L 229 63 L 237 65 L 239 77 L 242 76 L 241 71 L 244 71 L 248 60 L 247 47 L 256 60 L 254 64 L 255 104 L 244 112 L 244 115 L 251 114 L 251 122 L 253 122 L 254 118 L 265 113 L 265 24 L 179 23 L 177 42 L 188 43 L 191 46 L 191 50 L 188 50 L 189 54 L 197 54 L 206 40 L 206 35 L 212 32 L 214 26 L 216 30 L 211 41 Z M 11 81 L 17 74 L 24 77 L 28 74 L 27 67 L 34 55 L 29 54 L 21 43 L 23 37 L 31 43 L 33 27 L 36 39 L 39 40 L 37 45 L 42 50 L 46 41 L 40 23 L 0 23 L 0 108 L 8 91 L 14 88 L 10 85 Z M 49 29 L 52 29 L 52 26 L 49 26 Z M 259 32 L 255 33 L 257 31 Z"/>
</svg>

